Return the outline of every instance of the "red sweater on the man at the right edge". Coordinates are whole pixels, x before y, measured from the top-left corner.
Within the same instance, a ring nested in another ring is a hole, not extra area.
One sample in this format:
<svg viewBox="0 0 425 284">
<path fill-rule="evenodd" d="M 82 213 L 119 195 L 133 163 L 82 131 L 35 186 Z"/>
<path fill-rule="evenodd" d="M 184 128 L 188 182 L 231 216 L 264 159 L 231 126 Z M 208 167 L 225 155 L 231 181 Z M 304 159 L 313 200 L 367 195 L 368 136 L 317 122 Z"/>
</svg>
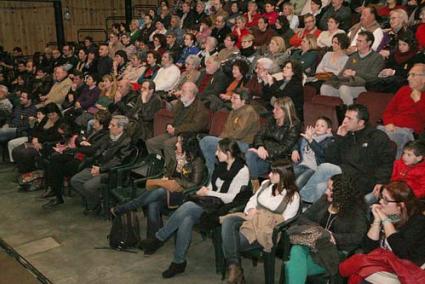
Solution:
<svg viewBox="0 0 425 284">
<path fill-rule="evenodd" d="M 384 111 L 384 125 L 392 123 L 398 127 L 412 128 L 419 134 L 425 128 L 425 92 L 422 92 L 421 99 L 416 103 L 410 97 L 411 92 L 409 86 L 397 91 Z"/>
</svg>

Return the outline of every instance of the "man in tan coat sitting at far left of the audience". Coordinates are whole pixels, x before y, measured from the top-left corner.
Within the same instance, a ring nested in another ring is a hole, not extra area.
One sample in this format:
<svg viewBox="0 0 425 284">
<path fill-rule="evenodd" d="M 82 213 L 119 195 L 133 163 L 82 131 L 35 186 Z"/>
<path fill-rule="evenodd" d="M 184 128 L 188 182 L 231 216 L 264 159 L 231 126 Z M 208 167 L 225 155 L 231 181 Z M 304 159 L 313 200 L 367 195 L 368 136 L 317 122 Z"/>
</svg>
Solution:
<svg viewBox="0 0 425 284">
<path fill-rule="evenodd" d="M 38 108 L 49 103 L 62 105 L 64 102 L 65 97 L 72 86 L 72 81 L 68 78 L 68 71 L 64 66 L 58 66 L 55 68 L 54 79 L 55 83 L 53 84 L 49 93 L 45 96 L 39 97 L 41 103 L 37 105 Z"/>
</svg>

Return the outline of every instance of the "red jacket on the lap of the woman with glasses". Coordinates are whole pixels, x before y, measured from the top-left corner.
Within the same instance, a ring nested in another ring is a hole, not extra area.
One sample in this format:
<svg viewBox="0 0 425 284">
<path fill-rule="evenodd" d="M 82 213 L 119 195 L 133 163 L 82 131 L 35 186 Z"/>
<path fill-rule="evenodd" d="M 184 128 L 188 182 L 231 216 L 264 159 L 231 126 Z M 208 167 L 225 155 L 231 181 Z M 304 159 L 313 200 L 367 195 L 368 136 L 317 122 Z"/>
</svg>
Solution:
<svg viewBox="0 0 425 284">
<path fill-rule="evenodd" d="M 355 254 L 339 264 L 341 276 L 349 277 L 348 284 L 361 283 L 369 275 L 380 271 L 395 273 L 402 284 L 425 283 L 424 270 L 382 248 L 368 254 Z"/>
</svg>

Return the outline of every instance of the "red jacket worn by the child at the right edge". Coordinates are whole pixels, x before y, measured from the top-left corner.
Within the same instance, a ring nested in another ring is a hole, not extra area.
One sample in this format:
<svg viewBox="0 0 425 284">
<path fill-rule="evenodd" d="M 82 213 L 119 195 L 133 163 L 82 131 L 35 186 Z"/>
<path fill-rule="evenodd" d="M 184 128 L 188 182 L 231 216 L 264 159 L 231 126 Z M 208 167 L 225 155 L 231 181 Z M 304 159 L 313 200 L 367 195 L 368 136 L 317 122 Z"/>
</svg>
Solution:
<svg viewBox="0 0 425 284">
<path fill-rule="evenodd" d="M 417 198 L 425 198 L 425 160 L 414 166 L 407 166 L 403 160 L 394 162 L 392 181 L 404 181 Z"/>
</svg>

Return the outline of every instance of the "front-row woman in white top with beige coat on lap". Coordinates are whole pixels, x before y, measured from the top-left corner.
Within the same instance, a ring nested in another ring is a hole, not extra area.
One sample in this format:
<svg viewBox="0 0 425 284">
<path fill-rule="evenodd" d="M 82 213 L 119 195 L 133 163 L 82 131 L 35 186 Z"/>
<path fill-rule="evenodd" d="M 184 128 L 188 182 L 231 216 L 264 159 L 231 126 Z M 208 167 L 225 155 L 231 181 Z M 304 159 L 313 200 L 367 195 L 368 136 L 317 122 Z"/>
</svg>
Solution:
<svg viewBox="0 0 425 284">
<path fill-rule="evenodd" d="M 251 197 L 243 213 L 222 218 L 223 253 L 228 265 L 227 283 L 244 283 L 240 252 L 252 248 L 270 251 L 274 226 L 294 217 L 300 206 L 295 176 L 290 167 L 272 168 Z M 261 220 L 273 220 L 261 222 Z M 273 224 L 269 224 L 273 223 Z"/>
</svg>

